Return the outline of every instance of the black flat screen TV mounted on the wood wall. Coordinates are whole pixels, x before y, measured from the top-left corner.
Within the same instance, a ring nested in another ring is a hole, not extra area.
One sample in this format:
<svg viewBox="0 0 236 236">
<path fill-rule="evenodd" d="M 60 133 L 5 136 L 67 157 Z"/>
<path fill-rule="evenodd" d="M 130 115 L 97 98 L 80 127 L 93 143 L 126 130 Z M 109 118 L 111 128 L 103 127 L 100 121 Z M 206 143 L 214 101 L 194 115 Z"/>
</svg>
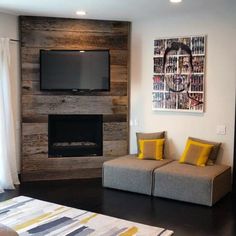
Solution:
<svg viewBox="0 0 236 236">
<path fill-rule="evenodd" d="M 40 89 L 109 91 L 109 50 L 40 50 Z"/>
</svg>

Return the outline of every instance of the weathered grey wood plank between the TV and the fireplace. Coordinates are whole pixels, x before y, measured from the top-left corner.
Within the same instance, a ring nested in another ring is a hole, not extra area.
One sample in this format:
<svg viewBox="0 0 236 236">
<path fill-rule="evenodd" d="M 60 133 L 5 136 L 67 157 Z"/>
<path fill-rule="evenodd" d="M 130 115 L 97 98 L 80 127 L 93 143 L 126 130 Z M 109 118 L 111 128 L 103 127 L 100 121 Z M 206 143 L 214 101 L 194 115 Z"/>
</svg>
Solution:
<svg viewBox="0 0 236 236">
<path fill-rule="evenodd" d="M 113 114 L 127 113 L 125 96 L 41 96 L 22 95 L 23 116 L 33 114 Z"/>
</svg>

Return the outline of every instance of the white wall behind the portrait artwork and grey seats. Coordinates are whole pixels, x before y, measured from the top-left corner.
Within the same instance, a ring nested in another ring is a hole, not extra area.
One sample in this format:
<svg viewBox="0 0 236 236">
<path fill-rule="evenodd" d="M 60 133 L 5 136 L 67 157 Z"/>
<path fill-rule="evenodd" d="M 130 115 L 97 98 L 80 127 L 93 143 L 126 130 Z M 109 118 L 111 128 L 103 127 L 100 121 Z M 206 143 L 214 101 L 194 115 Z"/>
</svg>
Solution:
<svg viewBox="0 0 236 236">
<path fill-rule="evenodd" d="M 167 131 L 168 150 L 179 159 L 188 136 L 222 142 L 219 162 L 233 165 L 236 84 L 236 17 L 224 9 L 157 16 L 132 22 L 130 151 L 136 153 L 135 133 Z M 205 112 L 189 114 L 152 111 L 153 41 L 174 36 L 207 35 Z M 217 125 L 226 135 L 217 135 Z"/>
</svg>

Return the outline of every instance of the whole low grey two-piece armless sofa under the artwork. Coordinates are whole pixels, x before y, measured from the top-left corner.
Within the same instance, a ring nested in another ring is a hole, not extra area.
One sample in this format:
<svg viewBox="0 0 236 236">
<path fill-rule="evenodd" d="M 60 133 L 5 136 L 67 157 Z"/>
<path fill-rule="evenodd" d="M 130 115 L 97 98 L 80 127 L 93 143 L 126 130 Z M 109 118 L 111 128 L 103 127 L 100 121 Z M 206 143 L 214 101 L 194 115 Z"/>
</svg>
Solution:
<svg viewBox="0 0 236 236">
<path fill-rule="evenodd" d="M 103 186 L 212 206 L 231 190 L 231 168 L 128 155 L 103 164 Z"/>
</svg>

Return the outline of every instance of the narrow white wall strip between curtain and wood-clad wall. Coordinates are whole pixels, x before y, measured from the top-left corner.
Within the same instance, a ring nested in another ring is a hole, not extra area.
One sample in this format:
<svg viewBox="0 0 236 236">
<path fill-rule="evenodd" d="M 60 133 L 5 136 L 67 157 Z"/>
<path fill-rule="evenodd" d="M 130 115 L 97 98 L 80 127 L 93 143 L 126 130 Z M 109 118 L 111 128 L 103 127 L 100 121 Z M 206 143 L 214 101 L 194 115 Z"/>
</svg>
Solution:
<svg viewBox="0 0 236 236">
<path fill-rule="evenodd" d="M 0 13 L 0 38 L 18 39 L 18 19 L 17 16 Z M 11 42 L 11 78 L 12 78 L 12 99 L 14 106 L 14 122 L 16 129 L 17 144 L 17 168 L 20 170 L 20 59 L 19 42 Z"/>
</svg>

